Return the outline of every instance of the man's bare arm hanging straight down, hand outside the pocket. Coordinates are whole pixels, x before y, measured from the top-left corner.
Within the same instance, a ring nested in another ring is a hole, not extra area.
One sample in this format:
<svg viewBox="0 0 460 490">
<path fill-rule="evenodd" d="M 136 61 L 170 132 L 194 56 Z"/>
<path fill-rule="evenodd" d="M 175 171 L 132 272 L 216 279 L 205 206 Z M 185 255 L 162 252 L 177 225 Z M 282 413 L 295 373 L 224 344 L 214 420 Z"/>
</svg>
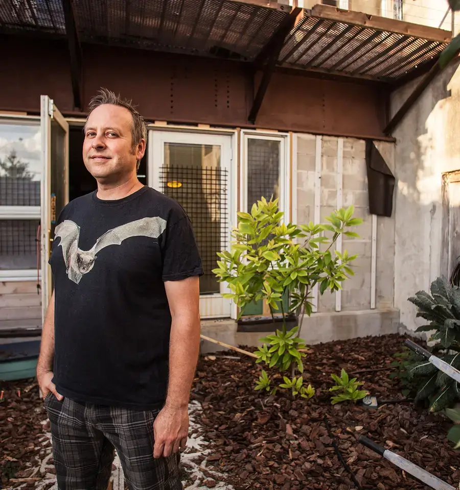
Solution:
<svg viewBox="0 0 460 490">
<path fill-rule="evenodd" d="M 199 278 L 166 281 L 171 310 L 169 383 L 166 403 L 154 424 L 153 456 L 168 457 L 185 446 L 188 405 L 200 346 Z"/>
</svg>

